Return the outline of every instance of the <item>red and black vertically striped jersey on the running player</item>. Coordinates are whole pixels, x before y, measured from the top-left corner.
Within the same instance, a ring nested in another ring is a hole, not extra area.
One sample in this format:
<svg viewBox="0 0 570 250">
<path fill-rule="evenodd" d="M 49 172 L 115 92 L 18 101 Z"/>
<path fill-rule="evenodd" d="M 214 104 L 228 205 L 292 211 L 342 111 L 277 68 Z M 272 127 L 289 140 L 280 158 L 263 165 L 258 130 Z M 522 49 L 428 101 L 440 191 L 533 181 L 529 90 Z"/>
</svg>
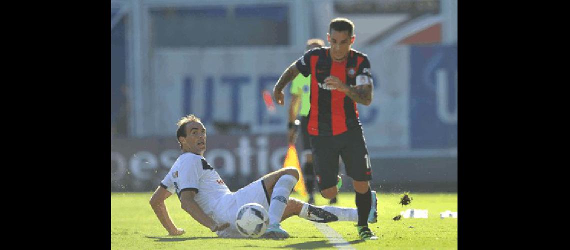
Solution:
<svg viewBox="0 0 570 250">
<path fill-rule="evenodd" d="M 336 89 L 329 89 L 324 79 L 339 77 L 347 85 L 372 84 L 368 56 L 351 49 L 344 62 L 334 62 L 329 47 L 307 51 L 296 62 L 303 76 L 311 75 L 311 108 L 307 132 L 312 136 L 336 136 L 362 126 L 356 102 Z"/>
</svg>

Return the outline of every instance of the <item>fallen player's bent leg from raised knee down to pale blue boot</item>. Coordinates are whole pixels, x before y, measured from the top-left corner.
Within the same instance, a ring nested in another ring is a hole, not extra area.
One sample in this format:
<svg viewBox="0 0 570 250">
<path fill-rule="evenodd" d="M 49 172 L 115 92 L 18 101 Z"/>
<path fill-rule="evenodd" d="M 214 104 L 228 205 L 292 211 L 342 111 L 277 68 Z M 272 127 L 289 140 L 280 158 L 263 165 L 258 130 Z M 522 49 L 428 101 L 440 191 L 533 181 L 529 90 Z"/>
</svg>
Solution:
<svg viewBox="0 0 570 250">
<path fill-rule="evenodd" d="M 287 239 L 289 233 L 280 226 L 289 195 L 299 180 L 299 171 L 286 167 L 263 177 L 266 190 L 270 194 L 269 226 L 261 237 L 268 239 Z"/>
</svg>

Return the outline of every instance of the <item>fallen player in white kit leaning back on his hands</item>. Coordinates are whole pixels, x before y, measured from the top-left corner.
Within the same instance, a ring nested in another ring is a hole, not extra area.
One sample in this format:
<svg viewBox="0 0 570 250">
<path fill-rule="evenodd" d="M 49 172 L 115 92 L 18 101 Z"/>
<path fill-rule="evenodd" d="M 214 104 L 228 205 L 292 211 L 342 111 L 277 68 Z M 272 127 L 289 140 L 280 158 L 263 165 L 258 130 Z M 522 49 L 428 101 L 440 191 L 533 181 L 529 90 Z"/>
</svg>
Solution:
<svg viewBox="0 0 570 250">
<path fill-rule="evenodd" d="M 286 239 L 280 222 L 292 215 L 314 222 L 358 221 L 356 208 L 312 206 L 289 195 L 299 179 L 294 167 L 274 171 L 236 192 L 231 192 L 217 171 L 202 156 L 206 151 L 206 128 L 193 114 L 178 121 L 176 132 L 182 154 L 150 198 L 150 206 L 169 235 L 182 235 L 168 215 L 164 200 L 176 192 L 181 207 L 198 223 L 220 237 L 243 237 L 235 227 L 235 215 L 246 203 L 259 203 L 269 214 L 269 226 L 261 236 Z M 369 223 L 377 220 L 376 200 L 372 200 Z"/>
</svg>

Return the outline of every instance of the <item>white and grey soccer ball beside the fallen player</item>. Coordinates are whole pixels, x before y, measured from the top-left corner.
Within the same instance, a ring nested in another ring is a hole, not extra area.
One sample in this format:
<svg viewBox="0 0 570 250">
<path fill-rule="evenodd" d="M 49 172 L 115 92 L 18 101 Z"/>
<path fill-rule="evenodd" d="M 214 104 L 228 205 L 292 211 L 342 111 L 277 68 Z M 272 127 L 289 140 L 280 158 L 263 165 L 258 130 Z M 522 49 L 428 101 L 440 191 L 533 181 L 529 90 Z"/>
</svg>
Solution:
<svg viewBox="0 0 570 250">
<path fill-rule="evenodd" d="M 247 203 L 239 208 L 235 216 L 235 227 L 243 236 L 257 238 L 265 232 L 269 214 L 258 203 Z"/>
</svg>

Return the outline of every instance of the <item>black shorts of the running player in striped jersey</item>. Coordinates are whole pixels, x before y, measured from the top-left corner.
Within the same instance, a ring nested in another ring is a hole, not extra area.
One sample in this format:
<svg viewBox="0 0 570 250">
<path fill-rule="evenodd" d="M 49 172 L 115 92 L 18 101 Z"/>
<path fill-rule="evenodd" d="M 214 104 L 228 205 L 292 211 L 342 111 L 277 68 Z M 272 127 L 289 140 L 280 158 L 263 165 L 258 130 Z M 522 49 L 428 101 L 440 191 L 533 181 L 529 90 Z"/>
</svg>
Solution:
<svg viewBox="0 0 570 250">
<path fill-rule="evenodd" d="M 349 129 L 337 136 L 310 136 L 313 167 L 319 189 L 336 186 L 339 155 L 347 175 L 355 181 L 370 181 L 370 158 L 361 128 Z"/>
</svg>

